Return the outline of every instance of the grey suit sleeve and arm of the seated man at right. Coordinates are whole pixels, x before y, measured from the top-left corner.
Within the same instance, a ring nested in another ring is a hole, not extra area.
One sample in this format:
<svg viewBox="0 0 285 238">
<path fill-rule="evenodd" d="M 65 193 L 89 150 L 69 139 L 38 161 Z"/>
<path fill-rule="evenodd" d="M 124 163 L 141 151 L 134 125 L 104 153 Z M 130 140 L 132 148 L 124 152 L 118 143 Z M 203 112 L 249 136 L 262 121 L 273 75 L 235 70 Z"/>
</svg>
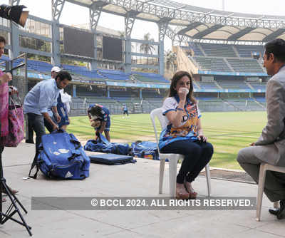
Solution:
<svg viewBox="0 0 285 238">
<path fill-rule="evenodd" d="M 279 140 L 284 131 L 285 101 L 284 88 L 274 80 L 269 80 L 266 88 L 267 124 L 254 145 L 268 145 Z"/>
</svg>

